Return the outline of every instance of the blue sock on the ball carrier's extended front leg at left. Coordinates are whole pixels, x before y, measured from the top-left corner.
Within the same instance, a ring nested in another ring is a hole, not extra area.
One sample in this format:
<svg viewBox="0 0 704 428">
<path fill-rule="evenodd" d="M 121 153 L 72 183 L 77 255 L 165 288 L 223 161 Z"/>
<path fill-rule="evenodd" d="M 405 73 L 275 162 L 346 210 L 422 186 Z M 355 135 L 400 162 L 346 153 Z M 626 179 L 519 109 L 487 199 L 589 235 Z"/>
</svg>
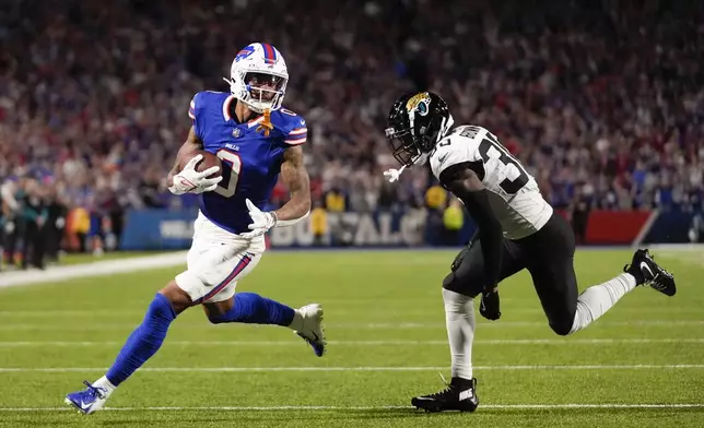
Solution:
<svg viewBox="0 0 704 428">
<path fill-rule="evenodd" d="M 105 377 L 115 387 L 122 383 L 162 346 L 176 312 L 166 297 L 157 294 L 142 323 L 130 334 Z"/>
</svg>

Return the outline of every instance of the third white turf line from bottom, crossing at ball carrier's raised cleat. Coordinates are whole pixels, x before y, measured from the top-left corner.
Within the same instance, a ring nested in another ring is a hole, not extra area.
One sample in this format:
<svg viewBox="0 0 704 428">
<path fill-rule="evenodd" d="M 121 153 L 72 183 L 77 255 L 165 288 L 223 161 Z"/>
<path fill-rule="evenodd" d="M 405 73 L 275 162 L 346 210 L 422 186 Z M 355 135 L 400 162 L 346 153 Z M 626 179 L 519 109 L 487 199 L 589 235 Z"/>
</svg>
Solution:
<svg viewBox="0 0 704 428">
<path fill-rule="evenodd" d="M 607 345 L 607 344 L 704 343 L 704 338 L 495 338 L 478 340 L 478 345 Z M 2 347 L 23 346 L 118 346 L 118 341 L 22 341 L 0 342 Z M 447 341 L 328 341 L 337 346 L 424 346 L 447 345 Z M 171 346 L 300 346 L 301 341 L 165 341 Z"/>
</svg>

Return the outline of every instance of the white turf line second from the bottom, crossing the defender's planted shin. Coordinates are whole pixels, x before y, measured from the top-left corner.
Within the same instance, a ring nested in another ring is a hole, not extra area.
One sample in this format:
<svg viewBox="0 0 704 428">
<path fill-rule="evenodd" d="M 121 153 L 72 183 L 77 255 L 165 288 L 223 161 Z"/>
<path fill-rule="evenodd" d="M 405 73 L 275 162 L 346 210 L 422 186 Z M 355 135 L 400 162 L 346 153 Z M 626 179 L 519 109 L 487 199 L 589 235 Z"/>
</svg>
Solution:
<svg viewBox="0 0 704 428">
<path fill-rule="evenodd" d="M 590 365 L 590 366 L 474 366 L 476 370 L 641 370 L 641 369 L 704 369 L 704 364 L 679 365 Z M 143 367 L 139 371 L 153 372 L 269 372 L 269 371 L 443 371 L 447 367 Z M 0 373 L 74 371 L 106 371 L 103 367 L 2 367 Z"/>
</svg>

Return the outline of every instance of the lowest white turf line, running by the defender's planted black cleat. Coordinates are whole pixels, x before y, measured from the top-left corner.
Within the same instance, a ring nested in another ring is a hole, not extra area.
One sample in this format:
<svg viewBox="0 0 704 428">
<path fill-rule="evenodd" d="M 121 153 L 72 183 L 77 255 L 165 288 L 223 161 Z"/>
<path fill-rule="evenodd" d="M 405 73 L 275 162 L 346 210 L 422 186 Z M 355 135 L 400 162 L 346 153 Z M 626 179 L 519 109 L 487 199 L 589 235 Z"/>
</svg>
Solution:
<svg viewBox="0 0 704 428">
<path fill-rule="evenodd" d="M 673 404 L 482 404 L 481 408 L 495 409 L 572 409 L 572 408 L 704 408 L 701 403 Z M 186 411 L 227 411 L 227 412 L 281 412 L 281 411 L 415 411 L 410 406 L 208 406 L 208 407 L 104 407 L 101 412 L 186 412 Z M 75 412 L 73 407 L 0 407 L 0 412 Z"/>
</svg>

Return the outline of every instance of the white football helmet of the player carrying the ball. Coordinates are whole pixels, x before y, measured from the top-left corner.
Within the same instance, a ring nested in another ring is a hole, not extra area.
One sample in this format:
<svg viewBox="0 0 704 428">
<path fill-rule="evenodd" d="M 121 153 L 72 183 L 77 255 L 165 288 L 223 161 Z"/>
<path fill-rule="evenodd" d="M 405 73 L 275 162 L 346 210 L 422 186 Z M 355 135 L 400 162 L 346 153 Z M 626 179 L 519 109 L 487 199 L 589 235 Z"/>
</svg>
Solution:
<svg viewBox="0 0 704 428">
<path fill-rule="evenodd" d="M 230 70 L 230 92 L 255 112 L 281 108 L 289 83 L 283 56 L 266 43 L 253 43 L 237 54 Z"/>
</svg>

